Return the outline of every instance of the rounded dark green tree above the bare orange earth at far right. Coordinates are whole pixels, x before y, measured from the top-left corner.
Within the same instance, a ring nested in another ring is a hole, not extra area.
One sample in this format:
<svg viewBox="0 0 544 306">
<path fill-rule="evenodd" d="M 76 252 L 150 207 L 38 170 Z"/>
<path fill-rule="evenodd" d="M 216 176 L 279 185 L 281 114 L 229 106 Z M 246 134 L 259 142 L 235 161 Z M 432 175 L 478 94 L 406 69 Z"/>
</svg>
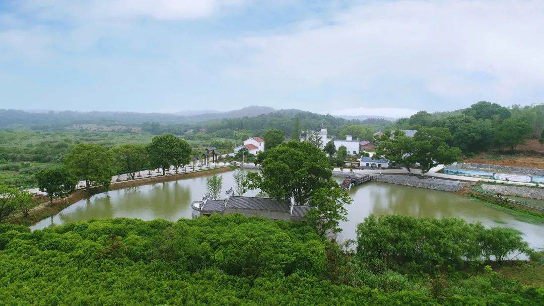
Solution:
<svg viewBox="0 0 544 306">
<path fill-rule="evenodd" d="M 495 143 L 497 147 L 507 147 L 514 150 L 516 145 L 521 145 L 529 138 L 532 132 L 529 123 L 517 118 L 504 120 L 496 129 Z"/>
</svg>

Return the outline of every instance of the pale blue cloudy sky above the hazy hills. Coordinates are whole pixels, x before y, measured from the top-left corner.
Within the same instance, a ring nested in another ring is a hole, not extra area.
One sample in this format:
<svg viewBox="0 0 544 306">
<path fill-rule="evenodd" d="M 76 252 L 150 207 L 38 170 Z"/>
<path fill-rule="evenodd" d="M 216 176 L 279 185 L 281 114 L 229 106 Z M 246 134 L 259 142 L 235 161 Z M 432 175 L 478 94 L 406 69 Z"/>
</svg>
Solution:
<svg viewBox="0 0 544 306">
<path fill-rule="evenodd" d="M 0 0 L 0 109 L 544 102 L 544 1 Z"/>
</svg>

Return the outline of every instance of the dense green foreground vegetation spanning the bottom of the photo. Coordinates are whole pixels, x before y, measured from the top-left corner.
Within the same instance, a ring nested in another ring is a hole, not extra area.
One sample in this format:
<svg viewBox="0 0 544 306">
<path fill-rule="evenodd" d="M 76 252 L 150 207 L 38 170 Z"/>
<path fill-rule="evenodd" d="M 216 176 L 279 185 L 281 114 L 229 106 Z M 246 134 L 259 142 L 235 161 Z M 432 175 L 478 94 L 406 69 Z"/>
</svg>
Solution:
<svg viewBox="0 0 544 306">
<path fill-rule="evenodd" d="M 442 222 L 428 229 L 437 229 L 440 235 L 434 235 L 425 234 L 428 220 L 371 217 L 358 227 L 356 253 L 349 241 L 339 246 L 303 223 L 236 214 L 177 222 L 94 220 L 34 232 L 0 224 L 0 300 L 106 306 L 544 303 L 541 288 L 506 279 L 489 266 L 469 265 L 468 272 L 480 272 L 467 273 L 467 267 L 448 265 L 462 261 L 467 250 L 455 235 L 474 232 L 463 233 L 470 226 L 460 220 Z M 408 230 L 392 236 L 400 223 Z M 514 251 L 508 240 L 520 235 L 497 238 Z M 366 251 L 369 241 L 375 242 L 372 251 Z M 404 265 L 410 256 L 430 272 Z"/>
</svg>

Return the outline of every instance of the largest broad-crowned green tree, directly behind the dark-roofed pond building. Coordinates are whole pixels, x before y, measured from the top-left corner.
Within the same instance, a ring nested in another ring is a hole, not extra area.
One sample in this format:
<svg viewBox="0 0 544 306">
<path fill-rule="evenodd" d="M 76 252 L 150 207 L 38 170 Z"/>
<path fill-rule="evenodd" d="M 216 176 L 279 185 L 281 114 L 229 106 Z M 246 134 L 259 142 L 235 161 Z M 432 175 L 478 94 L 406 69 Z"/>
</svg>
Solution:
<svg viewBox="0 0 544 306">
<path fill-rule="evenodd" d="M 259 188 L 276 199 L 294 196 L 296 204 L 310 201 L 314 190 L 338 185 L 323 151 L 307 142 L 284 142 L 259 153 L 261 173 L 248 173 L 249 188 Z"/>
</svg>

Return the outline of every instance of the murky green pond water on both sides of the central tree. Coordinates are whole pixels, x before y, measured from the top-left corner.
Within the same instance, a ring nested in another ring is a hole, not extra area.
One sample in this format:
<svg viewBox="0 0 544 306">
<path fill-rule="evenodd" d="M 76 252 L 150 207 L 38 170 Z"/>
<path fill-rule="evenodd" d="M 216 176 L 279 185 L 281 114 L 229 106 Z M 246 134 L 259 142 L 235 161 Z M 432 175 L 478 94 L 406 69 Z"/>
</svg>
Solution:
<svg viewBox="0 0 544 306">
<path fill-rule="evenodd" d="M 233 172 L 225 172 L 223 194 L 234 186 Z M 341 179 L 337 179 L 341 182 Z M 190 203 L 201 199 L 206 190 L 206 177 L 180 179 L 132 188 L 113 190 L 76 202 L 57 215 L 46 218 L 32 229 L 93 218 L 129 217 L 152 220 L 164 218 L 175 221 L 190 218 Z M 461 217 L 485 226 L 512 227 L 525 234 L 524 238 L 537 249 L 544 249 L 544 224 L 531 224 L 518 217 L 485 205 L 483 202 L 453 193 L 401 185 L 370 182 L 350 191 L 354 199 L 349 205 L 348 222 L 343 222 L 340 239 L 355 239 L 357 223 L 369 214 L 403 214 L 426 217 Z M 254 196 L 250 190 L 246 195 Z"/>
</svg>

